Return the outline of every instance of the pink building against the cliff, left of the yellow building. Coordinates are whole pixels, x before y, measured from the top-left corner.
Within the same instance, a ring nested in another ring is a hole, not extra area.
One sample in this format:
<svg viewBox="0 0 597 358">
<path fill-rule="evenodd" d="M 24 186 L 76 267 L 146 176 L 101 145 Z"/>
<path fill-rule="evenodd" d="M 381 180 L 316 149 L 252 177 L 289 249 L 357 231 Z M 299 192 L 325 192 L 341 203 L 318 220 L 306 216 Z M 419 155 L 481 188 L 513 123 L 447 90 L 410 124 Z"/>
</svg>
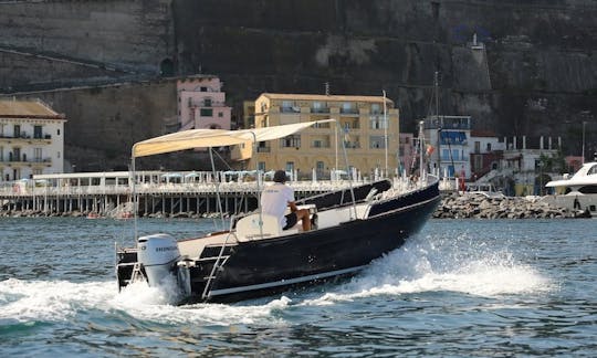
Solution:
<svg viewBox="0 0 597 358">
<path fill-rule="evenodd" d="M 231 107 L 220 78 L 211 75 L 190 76 L 177 82 L 179 130 L 230 129 Z"/>
</svg>

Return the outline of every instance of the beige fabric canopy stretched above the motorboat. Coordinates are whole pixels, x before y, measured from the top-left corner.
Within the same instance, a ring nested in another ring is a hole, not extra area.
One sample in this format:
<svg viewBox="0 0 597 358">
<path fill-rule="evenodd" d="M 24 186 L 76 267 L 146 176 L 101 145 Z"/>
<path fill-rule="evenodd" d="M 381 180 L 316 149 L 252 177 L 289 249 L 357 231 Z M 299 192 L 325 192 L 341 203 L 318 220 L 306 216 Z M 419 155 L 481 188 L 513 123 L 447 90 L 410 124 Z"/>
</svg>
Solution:
<svg viewBox="0 0 597 358">
<path fill-rule="evenodd" d="M 240 144 L 251 145 L 253 141 L 269 141 L 284 138 L 317 123 L 327 123 L 333 120 L 334 119 L 324 119 L 241 130 L 182 130 L 136 143 L 133 146 L 132 154 L 133 158 L 137 158 L 193 148 L 224 147 Z"/>
</svg>

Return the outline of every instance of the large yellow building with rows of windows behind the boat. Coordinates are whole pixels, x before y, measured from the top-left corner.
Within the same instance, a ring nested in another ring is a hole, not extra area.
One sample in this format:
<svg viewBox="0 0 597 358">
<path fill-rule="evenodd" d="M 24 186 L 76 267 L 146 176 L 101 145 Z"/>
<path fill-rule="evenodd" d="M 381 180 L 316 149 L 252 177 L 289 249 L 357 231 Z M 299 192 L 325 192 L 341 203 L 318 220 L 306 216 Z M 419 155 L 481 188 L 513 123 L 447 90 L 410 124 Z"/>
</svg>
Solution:
<svg viewBox="0 0 597 358">
<path fill-rule="evenodd" d="M 285 169 L 297 173 L 298 179 L 311 178 L 314 170 L 317 178 L 353 167 L 364 177 L 376 169 L 396 170 L 399 115 L 387 97 L 264 93 L 254 102 L 255 128 L 328 118 L 336 123 L 307 128 L 279 141 L 259 143 L 256 148 L 241 148 L 233 158 L 243 160 L 247 169 Z"/>
</svg>

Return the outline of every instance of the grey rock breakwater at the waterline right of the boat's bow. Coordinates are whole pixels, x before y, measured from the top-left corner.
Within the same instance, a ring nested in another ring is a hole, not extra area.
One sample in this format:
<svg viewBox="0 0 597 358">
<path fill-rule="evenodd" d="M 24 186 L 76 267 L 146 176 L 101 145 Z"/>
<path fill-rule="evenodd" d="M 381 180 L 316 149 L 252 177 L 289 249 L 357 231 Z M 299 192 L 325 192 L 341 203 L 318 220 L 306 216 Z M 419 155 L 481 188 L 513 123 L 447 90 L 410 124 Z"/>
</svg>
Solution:
<svg viewBox="0 0 597 358">
<path fill-rule="evenodd" d="M 583 211 L 549 206 L 536 198 L 489 197 L 481 193 L 446 196 L 433 213 L 436 219 L 556 219 L 585 218 Z"/>
</svg>

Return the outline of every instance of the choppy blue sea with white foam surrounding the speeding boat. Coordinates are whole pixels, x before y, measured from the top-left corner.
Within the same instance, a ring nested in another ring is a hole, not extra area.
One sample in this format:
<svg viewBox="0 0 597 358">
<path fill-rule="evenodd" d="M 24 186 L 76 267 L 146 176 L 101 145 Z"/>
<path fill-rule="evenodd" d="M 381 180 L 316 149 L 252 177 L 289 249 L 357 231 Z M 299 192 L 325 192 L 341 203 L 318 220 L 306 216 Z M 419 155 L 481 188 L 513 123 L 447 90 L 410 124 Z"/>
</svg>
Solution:
<svg viewBox="0 0 597 358">
<path fill-rule="evenodd" d="M 344 283 L 182 307 L 143 284 L 118 293 L 114 242 L 128 222 L 0 219 L 0 229 L 1 357 L 597 351 L 597 220 L 432 220 Z M 212 229 L 140 221 L 181 238 Z"/>
</svg>

